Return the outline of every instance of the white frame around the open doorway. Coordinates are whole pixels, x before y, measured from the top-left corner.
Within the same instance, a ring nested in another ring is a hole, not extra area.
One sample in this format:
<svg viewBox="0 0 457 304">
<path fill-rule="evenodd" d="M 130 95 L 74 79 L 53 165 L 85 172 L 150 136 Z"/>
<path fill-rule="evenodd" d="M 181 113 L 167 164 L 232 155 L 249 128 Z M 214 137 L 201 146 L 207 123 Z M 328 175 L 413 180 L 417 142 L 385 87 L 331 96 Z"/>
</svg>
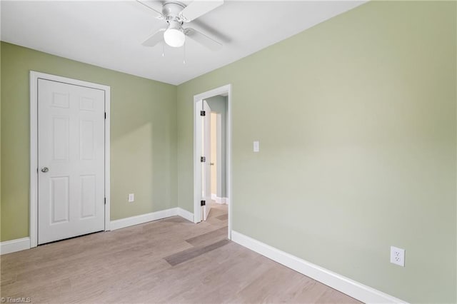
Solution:
<svg viewBox="0 0 457 304">
<path fill-rule="evenodd" d="M 201 136 L 201 132 L 197 132 L 196 130 L 196 103 L 197 101 L 201 101 L 202 99 L 210 98 L 216 95 L 227 94 L 227 113 L 226 113 L 226 196 L 227 196 L 227 204 L 228 204 L 228 238 L 231 240 L 231 222 L 232 222 L 232 191 L 231 191 L 231 84 L 227 84 L 226 86 L 221 86 L 219 88 L 214 88 L 210 91 L 206 91 L 204 93 L 200 93 L 194 96 L 194 223 L 199 223 L 201 221 L 201 177 L 199 176 L 199 166 L 200 163 L 200 156 L 197 155 L 197 146 L 196 146 L 196 138 L 197 136 Z M 199 112 L 200 113 L 200 112 Z M 200 117 L 200 115 L 199 115 Z"/>
</svg>

